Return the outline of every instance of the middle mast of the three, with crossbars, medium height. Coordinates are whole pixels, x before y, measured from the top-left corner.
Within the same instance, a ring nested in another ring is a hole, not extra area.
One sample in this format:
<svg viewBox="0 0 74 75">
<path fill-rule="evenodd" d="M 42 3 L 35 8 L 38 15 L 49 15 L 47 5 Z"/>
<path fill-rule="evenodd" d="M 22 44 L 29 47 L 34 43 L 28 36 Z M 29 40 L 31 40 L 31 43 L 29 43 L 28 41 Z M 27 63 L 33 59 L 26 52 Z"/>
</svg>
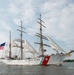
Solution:
<svg viewBox="0 0 74 75">
<path fill-rule="evenodd" d="M 20 49 L 21 49 L 21 60 L 23 59 L 23 40 L 22 40 L 22 35 L 23 33 L 26 33 L 23 31 L 23 29 L 25 29 L 23 27 L 22 21 L 21 21 L 21 26 L 19 26 L 21 29 L 17 29 L 20 32 Z"/>
</svg>

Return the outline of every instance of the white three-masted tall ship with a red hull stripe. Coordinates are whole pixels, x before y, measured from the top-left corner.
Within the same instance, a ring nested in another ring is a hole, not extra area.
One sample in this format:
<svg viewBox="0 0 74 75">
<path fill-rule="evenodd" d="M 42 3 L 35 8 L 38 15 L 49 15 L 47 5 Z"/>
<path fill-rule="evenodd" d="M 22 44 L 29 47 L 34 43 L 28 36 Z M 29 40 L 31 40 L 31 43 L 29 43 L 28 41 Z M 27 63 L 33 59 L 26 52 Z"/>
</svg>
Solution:
<svg viewBox="0 0 74 75">
<path fill-rule="evenodd" d="M 11 32 L 10 32 L 10 44 L 9 44 L 9 57 L 2 60 L 7 65 L 60 65 L 62 64 L 63 60 L 66 57 L 69 57 L 74 50 L 66 53 L 60 46 L 58 46 L 49 36 L 44 36 L 42 33 L 42 28 L 45 26 L 43 25 L 43 21 L 41 19 L 41 15 L 39 18 L 39 25 L 40 25 L 40 32 L 36 33 L 36 36 L 40 38 L 40 42 L 35 42 L 35 44 L 39 44 L 40 46 L 40 53 L 36 51 L 31 44 L 25 39 L 22 39 L 24 27 L 21 21 L 20 30 L 20 39 L 12 40 L 11 41 Z M 49 41 L 49 45 L 45 44 L 43 41 Z M 15 42 L 19 42 L 19 45 Z M 44 49 L 44 46 L 47 46 L 49 49 L 52 48 L 56 53 L 53 54 L 45 54 L 47 51 Z M 15 55 L 12 57 L 12 47 L 17 47 L 20 49 L 20 55 Z M 29 57 L 25 57 L 24 54 L 30 52 L 32 56 L 28 55 Z"/>
</svg>

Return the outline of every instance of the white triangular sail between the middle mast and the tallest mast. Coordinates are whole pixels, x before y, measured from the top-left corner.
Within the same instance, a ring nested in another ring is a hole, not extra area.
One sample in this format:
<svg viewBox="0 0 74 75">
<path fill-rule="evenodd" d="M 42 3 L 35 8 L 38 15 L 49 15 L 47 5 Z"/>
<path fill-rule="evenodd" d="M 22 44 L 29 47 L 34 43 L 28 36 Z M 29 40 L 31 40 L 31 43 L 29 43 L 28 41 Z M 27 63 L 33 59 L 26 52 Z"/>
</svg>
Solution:
<svg viewBox="0 0 74 75">
<path fill-rule="evenodd" d="M 31 52 L 32 54 L 39 54 L 27 40 L 24 40 L 24 51 Z"/>
</svg>

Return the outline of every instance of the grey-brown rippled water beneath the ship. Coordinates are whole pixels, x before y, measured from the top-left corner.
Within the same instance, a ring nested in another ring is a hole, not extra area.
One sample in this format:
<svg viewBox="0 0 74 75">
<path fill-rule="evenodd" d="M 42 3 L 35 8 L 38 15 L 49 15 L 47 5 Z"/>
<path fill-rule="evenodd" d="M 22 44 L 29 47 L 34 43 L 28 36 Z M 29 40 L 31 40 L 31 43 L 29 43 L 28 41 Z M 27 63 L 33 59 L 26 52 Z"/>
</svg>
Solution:
<svg viewBox="0 0 74 75">
<path fill-rule="evenodd" d="M 63 66 L 7 66 L 0 63 L 0 75 L 74 75 L 74 62 Z"/>
</svg>

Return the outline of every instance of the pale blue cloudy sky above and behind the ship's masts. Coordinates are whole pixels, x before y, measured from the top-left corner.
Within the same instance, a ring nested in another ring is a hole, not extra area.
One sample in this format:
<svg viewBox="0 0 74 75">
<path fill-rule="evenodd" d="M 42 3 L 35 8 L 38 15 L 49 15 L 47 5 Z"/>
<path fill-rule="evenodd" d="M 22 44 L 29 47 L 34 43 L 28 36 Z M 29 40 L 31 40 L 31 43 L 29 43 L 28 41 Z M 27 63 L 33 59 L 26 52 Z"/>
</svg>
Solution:
<svg viewBox="0 0 74 75">
<path fill-rule="evenodd" d="M 23 39 L 34 47 L 40 14 L 46 26 L 43 34 L 49 35 L 66 52 L 74 49 L 74 0 L 0 0 L 0 43 L 9 41 L 9 31 L 13 39 L 20 38 L 17 29 L 22 21 L 27 32 Z"/>
</svg>

